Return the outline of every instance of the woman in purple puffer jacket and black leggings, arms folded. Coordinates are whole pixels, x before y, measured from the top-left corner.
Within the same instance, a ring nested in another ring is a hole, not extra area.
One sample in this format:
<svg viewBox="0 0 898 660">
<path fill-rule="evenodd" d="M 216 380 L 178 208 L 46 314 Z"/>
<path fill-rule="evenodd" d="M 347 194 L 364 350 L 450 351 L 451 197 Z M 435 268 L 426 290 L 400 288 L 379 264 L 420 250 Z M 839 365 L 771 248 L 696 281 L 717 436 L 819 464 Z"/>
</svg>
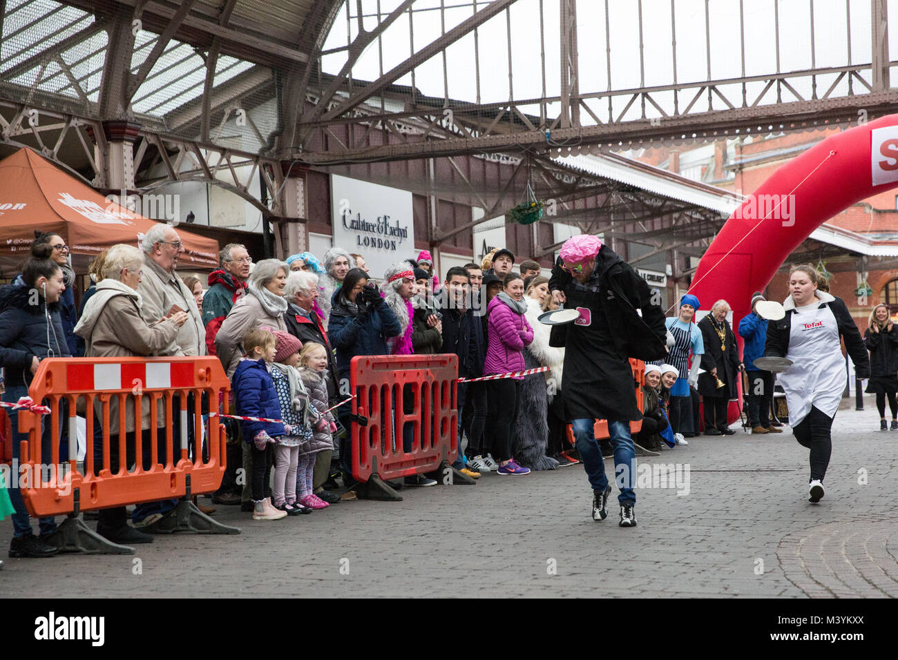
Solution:
<svg viewBox="0 0 898 660">
<path fill-rule="evenodd" d="M 533 328 L 524 317 L 526 311 L 524 280 L 517 273 L 509 273 L 502 282 L 502 291 L 487 306 L 489 348 L 483 375 L 524 370 L 524 347 L 533 341 Z M 523 376 L 518 376 L 487 381 L 488 415 L 496 420 L 492 453 L 499 463 L 499 474 L 530 472 L 530 468 L 521 467 L 511 457 L 512 422 L 523 380 Z"/>
</svg>

